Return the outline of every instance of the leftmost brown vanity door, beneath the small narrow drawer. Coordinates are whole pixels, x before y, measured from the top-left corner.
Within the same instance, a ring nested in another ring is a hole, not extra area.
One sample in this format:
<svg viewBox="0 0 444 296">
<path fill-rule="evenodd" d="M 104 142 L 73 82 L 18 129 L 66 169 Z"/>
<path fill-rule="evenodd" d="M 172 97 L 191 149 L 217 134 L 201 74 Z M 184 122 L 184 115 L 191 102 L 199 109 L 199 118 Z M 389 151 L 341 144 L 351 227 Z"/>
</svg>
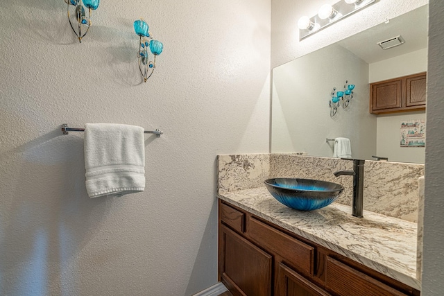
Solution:
<svg viewBox="0 0 444 296">
<path fill-rule="evenodd" d="M 270 296 L 272 256 L 221 225 L 219 272 L 234 295 Z"/>
</svg>

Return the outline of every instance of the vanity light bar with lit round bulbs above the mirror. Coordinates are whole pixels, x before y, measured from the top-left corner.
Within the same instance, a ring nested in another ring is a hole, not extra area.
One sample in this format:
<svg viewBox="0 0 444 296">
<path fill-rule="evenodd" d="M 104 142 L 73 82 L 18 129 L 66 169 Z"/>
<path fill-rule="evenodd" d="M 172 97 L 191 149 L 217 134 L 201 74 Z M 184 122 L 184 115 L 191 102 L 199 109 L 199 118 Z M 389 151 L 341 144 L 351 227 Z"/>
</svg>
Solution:
<svg viewBox="0 0 444 296">
<path fill-rule="evenodd" d="M 379 0 L 341 0 L 333 5 L 324 4 L 314 17 L 303 16 L 299 19 L 299 40 L 303 40 L 377 1 Z"/>
</svg>

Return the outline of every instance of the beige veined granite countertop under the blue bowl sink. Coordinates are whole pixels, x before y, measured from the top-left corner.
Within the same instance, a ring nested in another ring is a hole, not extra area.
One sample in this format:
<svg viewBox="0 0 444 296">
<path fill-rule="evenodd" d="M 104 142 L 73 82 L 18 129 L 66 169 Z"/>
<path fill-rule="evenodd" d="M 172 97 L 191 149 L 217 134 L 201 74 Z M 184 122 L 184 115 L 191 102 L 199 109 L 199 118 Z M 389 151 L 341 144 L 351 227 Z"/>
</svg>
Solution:
<svg viewBox="0 0 444 296">
<path fill-rule="evenodd" d="M 297 211 L 275 200 L 264 186 L 219 191 L 218 198 L 412 288 L 421 288 L 416 278 L 417 223 L 370 211 L 364 211 L 364 218 L 356 218 L 351 207 L 337 202 L 316 211 Z"/>
</svg>

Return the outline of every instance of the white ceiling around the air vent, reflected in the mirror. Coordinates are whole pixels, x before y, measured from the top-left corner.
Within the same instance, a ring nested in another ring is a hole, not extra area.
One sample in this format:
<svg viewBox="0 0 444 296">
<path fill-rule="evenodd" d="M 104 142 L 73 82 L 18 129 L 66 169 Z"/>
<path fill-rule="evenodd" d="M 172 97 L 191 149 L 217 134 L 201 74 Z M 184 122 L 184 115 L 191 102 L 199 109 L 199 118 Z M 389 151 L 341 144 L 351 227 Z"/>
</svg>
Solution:
<svg viewBox="0 0 444 296">
<path fill-rule="evenodd" d="M 366 31 L 337 42 L 368 64 L 393 58 L 397 55 L 418 51 L 427 47 L 428 6 L 411 10 Z M 383 50 L 377 42 L 401 35 L 405 42 L 400 46 Z"/>
</svg>

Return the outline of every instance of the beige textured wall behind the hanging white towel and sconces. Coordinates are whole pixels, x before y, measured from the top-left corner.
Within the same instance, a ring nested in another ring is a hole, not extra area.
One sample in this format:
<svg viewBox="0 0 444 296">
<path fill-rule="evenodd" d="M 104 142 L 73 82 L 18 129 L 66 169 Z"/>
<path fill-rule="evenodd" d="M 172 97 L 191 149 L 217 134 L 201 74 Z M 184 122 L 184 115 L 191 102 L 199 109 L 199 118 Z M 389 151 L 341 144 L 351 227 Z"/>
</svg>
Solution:
<svg viewBox="0 0 444 296">
<path fill-rule="evenodd" d="M 147 5 L 148 4 L 148 5 Z M 267 153 L 270 0 L 0 2 L 0 294 L 191 295 L 216 283 L 216 155 Z M 164 42 L 141 82 L 133 21 Z M 90 200 L 83 134 L 160 128 L 146 190 Z"/>
</svg>

